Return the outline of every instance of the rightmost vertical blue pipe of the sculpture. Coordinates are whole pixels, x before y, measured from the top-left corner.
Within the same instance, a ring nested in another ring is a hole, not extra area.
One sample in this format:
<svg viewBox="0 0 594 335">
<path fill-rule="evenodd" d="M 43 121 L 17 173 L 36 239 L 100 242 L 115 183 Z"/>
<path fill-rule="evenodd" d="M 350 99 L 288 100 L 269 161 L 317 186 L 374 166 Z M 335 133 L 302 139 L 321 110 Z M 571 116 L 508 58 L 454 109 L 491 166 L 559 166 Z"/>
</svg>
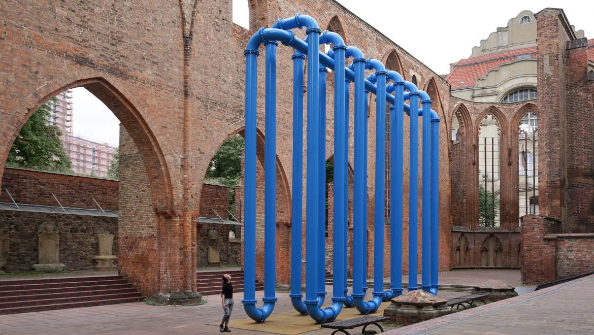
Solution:
<svg viewBox="0 0 594 335">
<path fill-rule="evenodd" d="M 431 119 L 431 293 L 437 295 L 439 285 L 439 122 Z"/>
</svg>

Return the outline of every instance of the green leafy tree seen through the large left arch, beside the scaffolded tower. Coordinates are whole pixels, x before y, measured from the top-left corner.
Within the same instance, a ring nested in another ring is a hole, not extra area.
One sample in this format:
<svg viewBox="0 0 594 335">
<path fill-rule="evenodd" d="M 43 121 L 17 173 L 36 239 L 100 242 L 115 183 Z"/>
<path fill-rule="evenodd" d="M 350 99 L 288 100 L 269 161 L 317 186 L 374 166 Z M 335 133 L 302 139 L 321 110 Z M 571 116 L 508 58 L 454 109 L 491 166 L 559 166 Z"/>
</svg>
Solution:
<svg viewBox="0 0 594 335">
<path fill-rule="evenodd" d="M 56 103 L 54 97 L 50 100 Z M 19 168 L 72 172 L 72 162 L 67 156 L 55 125 L 49 125 L 49 103 L 44 103 L 25 122 L 8 153 L 7 165 Z"/>
</svg>

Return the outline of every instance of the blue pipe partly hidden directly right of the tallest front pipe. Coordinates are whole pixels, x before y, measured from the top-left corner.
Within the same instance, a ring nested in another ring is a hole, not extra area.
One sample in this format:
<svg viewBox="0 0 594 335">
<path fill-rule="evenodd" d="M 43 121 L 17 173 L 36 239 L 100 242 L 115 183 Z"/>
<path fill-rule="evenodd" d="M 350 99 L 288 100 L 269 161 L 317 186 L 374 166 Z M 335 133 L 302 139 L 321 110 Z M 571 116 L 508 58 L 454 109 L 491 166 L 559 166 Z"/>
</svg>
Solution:
<svg viewBox="0 0 594 335">
<path fill-rule="evenodd" d="M 320 173 L 320 183 L 318 184 L 318 192 L 320 199 L 324 200 L 324 206 L 320 204 L 318 207 L 318 308 L 324 304 L 326 299 L 326 74 L 328 69 L 320 64 L 318 68 L 318 82 L 320 103 L 318 113 L 319 122 L 319 141 L 318 153 L 320 154 L 318 160 L 318 173 Z"/>
</svg>

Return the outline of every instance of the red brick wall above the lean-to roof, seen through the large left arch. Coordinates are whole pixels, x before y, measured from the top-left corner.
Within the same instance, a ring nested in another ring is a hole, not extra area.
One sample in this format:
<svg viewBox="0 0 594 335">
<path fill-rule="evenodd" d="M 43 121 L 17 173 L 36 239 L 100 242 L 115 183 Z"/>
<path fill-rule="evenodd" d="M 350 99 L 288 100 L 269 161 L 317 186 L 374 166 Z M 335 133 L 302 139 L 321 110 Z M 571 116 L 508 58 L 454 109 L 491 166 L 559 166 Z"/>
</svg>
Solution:
<svg viewBox="0 0 594 335">
<path fill-rule="evenodd" d="M 6 168 L 0 202 L 12 203 L 5 188 L 17 203 L 59 206 L 53 193 L 64 207 L 97 208 L 93 197 L 103 209 L 118 210 L 118 181 L 108 179 Z"/>
</svg>

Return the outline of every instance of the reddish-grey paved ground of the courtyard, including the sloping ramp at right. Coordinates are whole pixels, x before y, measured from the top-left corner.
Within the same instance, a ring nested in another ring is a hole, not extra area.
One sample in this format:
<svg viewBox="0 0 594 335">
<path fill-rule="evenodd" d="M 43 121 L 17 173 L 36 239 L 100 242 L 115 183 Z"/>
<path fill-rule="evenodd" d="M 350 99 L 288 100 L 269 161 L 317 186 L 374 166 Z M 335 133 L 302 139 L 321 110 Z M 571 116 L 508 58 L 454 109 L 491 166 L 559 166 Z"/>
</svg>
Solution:
<svg viewBox="0 0 594 335">
<path fill-rule="evenodd" d="M 519 286 L 519 270 L 457 270 L 440 273 L 440 282 L 455 285 L 478 285 L 487 279 L 498 279 Z M 406 280 L 405 280 L 406 282 Z M 526 291 L 533 287 L 525 287 Z M 329 293 L 332 287 L 327 286 Z M 440 291 L 445 299 L 466 293 Z M 263 291 L 257 291 L 258 300 Z M 307 316 L 292 315 L 290 298 L 277 293 L 279 301 L 274 314 L 258 325 L 258 331 L 233 328 L 244 319 L 242 293 L 235 294 L 236 306 L 230 321 L 232 334 L 266 334 L 268 321 L 275 317 L 280 323 L 293 325 L 290 318 L 307 320 Z M 594 276 L 584 277 L 560 286 L 526 293 L 516 298 L 460 311 L 442 318 L 403 328 L 386 327 L 386 334 L 538 334 L 594 332 Z M 144 302 L 131 304 L 61 309 L 0 315 L 2 334 L 219 334 L 216 324 L 222 317 L 220 296 L 207 296 L 200 306 L 151 306 Z M 276 315 L 275 315 L 276 314 Z M 296 314 L 296 313 L 295 313 Z M 290 315 L 285 317 L 283 315 Z M 313 321 L 311 322 L 313 323 Z M 295 324 L 293 333 L 301 333 Z M 317 328 L 302 334 L 330 334 Z M 370 329 L 373 329 L 370 327 Z M 351 331 L 361 333 L 361 328 Z"/>
</svg>

